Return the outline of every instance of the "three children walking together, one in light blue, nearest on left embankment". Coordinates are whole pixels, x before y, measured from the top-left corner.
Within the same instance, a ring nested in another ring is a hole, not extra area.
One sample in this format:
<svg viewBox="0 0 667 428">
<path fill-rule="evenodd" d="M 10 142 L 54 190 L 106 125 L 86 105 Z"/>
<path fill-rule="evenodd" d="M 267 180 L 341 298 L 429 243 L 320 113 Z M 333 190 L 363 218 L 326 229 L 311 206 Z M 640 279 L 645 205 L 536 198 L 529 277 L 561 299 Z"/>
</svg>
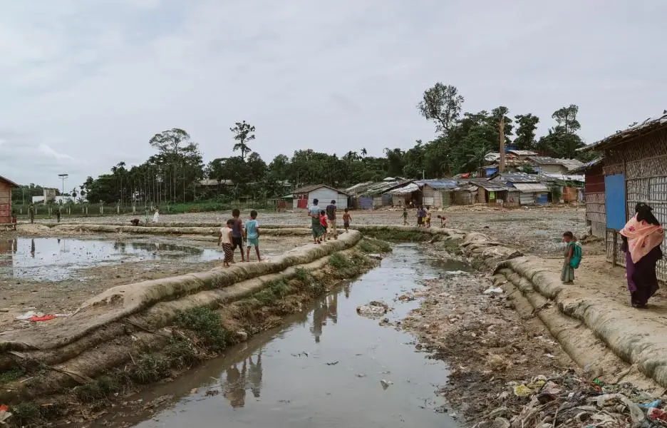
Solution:
<svg viewBox="0 0 667 428">
<path fill-rule="evenodd" d="M 246 243 L 246 252 L 244 254 L 244 240 Z M 255 248 L 257 261 L 261 262 L 259 256 L 259 222 L 257 221 L 257 211 L 250 211 L 250 220 L 245 224 L 241 220 L 241 211 L 232 210 L 232 218 L 220 229 L 218 234 L 218 245 L 222 245 L 224 251 L 224 267 L 229 267 L 234 263 L 234 251 L 241 249 L 241 261 L 250 261 L 250 248 Z"/>
</svg>

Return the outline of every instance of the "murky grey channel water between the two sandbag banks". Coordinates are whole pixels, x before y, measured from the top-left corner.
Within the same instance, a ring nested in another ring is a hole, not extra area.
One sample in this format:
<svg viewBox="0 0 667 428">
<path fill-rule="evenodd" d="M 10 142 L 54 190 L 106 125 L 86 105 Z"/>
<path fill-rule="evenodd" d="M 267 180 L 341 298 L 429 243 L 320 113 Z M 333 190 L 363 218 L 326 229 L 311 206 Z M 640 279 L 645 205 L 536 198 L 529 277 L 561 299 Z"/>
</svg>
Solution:
<svg viewBox="0 0 667 428">
<path fill-rule="evenodd" d="M 172 394 L 174 406 L 143 422 L 136 414 L 110 415 L 93 426 L 456 427 L 453 417 L 438 412 L 445 402 L 435 391 L 446 382 L 445 365 L 416 352 L 412 335 L 381 327 L 357 315 L 356 307 L 384 300 L 393 306 L 389 319 L 403 319 L 419 302 L 395 297 L 442 269 L 462 268 L 453 262 L 435 270 L 414 245 L 398 245 L 380 267 L 290 317 L 284 327 L 130 399 L 147 403 Z M 381 380 L 393 384 L 383 387 Z M 113 410 L 119 412 L 128 410 Z"/>
</svg>

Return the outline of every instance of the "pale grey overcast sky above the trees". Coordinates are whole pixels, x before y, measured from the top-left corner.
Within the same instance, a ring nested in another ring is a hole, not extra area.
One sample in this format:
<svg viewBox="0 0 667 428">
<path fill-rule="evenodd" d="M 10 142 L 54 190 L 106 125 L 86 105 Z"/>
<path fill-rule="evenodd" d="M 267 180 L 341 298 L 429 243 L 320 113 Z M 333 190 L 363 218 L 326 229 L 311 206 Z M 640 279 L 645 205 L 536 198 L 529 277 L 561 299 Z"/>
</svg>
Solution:
<svg viewBox="0 0 667 428">
<path fill-rule="evenodd" d="M 0 0 L 0 175 L 68 188 L 185 128 L 205 161 L 229 126 L 267 161 L 433 138 L 436 81 L 465 111 L 579 106 L 592 143 L 667 108 L 663 0 Z"/>
</svg>

